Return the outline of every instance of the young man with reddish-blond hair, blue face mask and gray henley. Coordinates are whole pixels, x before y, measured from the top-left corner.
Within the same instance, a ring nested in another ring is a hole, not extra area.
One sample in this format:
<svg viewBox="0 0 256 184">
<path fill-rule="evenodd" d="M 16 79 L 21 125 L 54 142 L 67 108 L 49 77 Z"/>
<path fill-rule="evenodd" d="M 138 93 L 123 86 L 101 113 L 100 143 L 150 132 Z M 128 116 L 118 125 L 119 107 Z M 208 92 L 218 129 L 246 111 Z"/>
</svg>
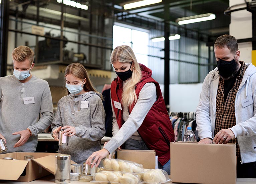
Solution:
<svg viewBox="0 0 256 184">
<path fill-rule="evenodd" d="M 4 153 L 35 152 L 37 135 L 53 120 L 51 92 L 45 80 L 31 74 L 33 50 L 18 46 L 12 59 L 13 75 L 0 78 L 0 138 L 8 147 Z"/>
</svg>

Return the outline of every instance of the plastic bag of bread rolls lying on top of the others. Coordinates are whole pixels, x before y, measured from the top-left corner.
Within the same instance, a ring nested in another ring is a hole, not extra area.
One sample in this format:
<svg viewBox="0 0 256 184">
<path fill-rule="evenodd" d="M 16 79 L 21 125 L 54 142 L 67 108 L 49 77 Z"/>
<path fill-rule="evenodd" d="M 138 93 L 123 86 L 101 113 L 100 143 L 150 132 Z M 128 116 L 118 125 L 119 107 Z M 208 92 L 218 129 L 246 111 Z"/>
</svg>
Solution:
<svg viewBox="0 0 256 184">
<path fill-rule="evenodd" d="M 102 160 L 102 167 L 107 171 L 121 171 L 124 173 L 142 173 L 143 165 L 136 162 L 120 159 L 108 159 L 105 158 Z"/>
</svg>

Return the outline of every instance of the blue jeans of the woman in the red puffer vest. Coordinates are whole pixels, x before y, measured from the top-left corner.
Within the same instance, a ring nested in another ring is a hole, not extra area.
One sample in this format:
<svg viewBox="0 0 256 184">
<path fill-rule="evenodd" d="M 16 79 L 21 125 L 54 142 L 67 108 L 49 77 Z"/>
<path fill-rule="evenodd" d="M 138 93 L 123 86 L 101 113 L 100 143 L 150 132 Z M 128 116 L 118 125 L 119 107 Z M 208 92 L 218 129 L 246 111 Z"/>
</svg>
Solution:
<svg viewBox="0 0 256 184">
<path fill-rule="evenodd" d="M 124 149 L 134 149 L 134 150 L 149 150 L 149 148 L 146 146 L 145 142 L 143 140 L 135 140 L 132 138 L 129 138 L 124 142 Z M 165 165 L 161 165 L 158 162 L 158 168 L 165 170 L 168 175 L 170 175 L 170 160 L 166 162 Z"/>
</svg>

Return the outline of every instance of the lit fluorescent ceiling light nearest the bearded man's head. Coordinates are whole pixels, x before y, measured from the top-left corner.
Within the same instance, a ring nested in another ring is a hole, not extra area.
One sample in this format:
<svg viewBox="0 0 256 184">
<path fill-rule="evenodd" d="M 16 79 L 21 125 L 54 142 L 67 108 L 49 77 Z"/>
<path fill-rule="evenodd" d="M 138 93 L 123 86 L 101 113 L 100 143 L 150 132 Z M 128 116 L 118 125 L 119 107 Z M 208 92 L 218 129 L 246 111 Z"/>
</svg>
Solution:
<svg viewBox="0 0 256 184">
<path fill-rule="evenodd" d="M 183 17 L 176 19 L 176 22 L 178 22 L 179 25 L 183 24 L 191 24 L 195 22 L 202 22 L 202 21 L 209 21 L 215 19 L 216 16 L 213 13 L 206 13 L 201 15 L 194 15 L 189 17 Z"/>
</svg>

